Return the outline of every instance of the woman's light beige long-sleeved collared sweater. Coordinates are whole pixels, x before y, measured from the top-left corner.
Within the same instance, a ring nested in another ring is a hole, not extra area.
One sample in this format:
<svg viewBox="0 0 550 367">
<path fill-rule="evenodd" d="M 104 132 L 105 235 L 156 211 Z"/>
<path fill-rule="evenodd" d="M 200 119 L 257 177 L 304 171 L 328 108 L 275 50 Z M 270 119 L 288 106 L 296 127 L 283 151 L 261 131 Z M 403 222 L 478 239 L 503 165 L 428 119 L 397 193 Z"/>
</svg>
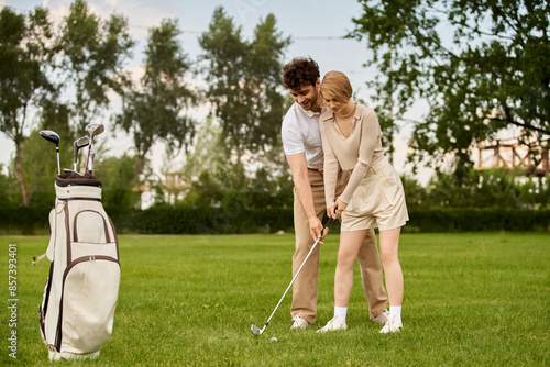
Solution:
<svg viewBox="0 0 550 367">
<path fill-rule="evenodd" d="M 345 137 L 340 132 L 334 114 L 330 109 L 321 114 L 319 125 L 324 152 L 324 198 L 327 208 L 334 205 L 334 191 L 340 169 L 353 169 L 350 181 L 340 196 L 341 201 L 349 203 L 366 170 L 384 155 L 378 118 L 373 109 L 358 103 L 349 137 Z"/>
</svg>

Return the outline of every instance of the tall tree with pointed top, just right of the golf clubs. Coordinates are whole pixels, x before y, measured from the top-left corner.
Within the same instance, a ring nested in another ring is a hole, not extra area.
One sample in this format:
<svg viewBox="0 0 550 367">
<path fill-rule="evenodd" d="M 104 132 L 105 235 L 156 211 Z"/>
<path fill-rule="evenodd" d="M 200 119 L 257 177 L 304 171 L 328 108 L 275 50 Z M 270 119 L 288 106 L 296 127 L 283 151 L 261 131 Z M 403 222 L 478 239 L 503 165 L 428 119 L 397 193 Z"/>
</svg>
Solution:
<svg viewBox="0 0 550 367">
<path fill-rule="evenodd" d="M 196 96 L 185 82 L 190 63 L 177 40 L 179 34 L 175 20 L 165 20 L 151 30 L 140 90 L 134 88 L 124 96 L 122 113 L 117 118 L 117 123 L 133 134 L 138 174 L 143 171 L 146 154 L 157 138 L 168 148 L 179 149 L 187 147 L 195 132 L 186 112 Z"/>
</svg>

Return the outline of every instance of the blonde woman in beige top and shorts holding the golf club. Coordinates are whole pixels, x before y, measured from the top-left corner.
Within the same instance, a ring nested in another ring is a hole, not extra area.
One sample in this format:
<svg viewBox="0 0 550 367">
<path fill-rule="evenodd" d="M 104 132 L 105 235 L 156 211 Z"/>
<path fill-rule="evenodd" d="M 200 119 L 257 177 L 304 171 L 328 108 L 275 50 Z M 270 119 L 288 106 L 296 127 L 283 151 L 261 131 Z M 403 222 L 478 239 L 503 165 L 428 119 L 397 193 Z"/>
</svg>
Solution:
<svg viewBox="0 0 550 367">
<path fill-rule="evenodd" d="M 332 218 L 341 216 L 342 226 L 334 276 L 334 318 L 319 332 L 346 329 L 353 264 L 367 230 L 376 226 L 389 297 L 389 315 L 381 333 L 397 332 L 403 327 L 403 273 L 397 247 L 400 229 L 408 221 L 405 193 L 399 176 L 384 157 L 376 113 L 352 102 L 352 91 L 350 80 L 340 71 L 328 73 L 320 87 L 330 108 L 319 119 L 327 212 Z M 334 201 L 339 169 L 353 171 Z"/>
</svg>

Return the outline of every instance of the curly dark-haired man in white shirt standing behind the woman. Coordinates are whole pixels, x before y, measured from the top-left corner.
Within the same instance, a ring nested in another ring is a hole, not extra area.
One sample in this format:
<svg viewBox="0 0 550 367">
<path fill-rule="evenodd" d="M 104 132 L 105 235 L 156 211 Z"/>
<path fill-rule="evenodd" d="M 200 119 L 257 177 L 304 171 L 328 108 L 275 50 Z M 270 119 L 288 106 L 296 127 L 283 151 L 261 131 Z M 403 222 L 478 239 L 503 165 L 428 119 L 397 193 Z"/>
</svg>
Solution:
<svg viewBox="0 0 550 367">
<path fill-rule="evenodd" d="M 304 263 L 317 238 L 322 238 L 321 219 L 326 211 L 322 178 L 323 153 L 319 115 L 319 66 L 310 58 L 295 58 L 283 70 L 285 88 L 295 103 L 283 120 L 282 137 L 285 155 L 294 179 L 294 227 L 296 252 L 293 256 L 293 275 Z M 341 171 L 337 182 L 337 197 L 342 193 L 349 173 Z M 326 234 L 326 233 L 324 233 Z M 320 244 L 322 244 L 320 242 Z M 363 290 L 370 305 L 370 318 L 384 324 L 387 320 L 387 294 L 384 289 L 382 265 L 374 230 L 371 230 L 359 253 Z M 293 287 L 292 330 L 306 329 L 317 316 L 317 280 L 319 247 L 296 278 Z"/>
</svg>

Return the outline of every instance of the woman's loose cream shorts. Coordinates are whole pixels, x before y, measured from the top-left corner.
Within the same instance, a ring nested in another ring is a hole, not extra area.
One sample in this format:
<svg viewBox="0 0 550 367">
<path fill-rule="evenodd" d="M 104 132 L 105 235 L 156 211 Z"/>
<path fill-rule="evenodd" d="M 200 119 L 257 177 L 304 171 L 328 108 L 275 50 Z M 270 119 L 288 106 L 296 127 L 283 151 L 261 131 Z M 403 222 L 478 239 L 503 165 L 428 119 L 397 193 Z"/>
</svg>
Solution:
<svg viewBox="0 0 550 367">
<path fill-rule="evenodd" d="M 369 168 L 343 211 L 342 231 L 386 231 L 400 227 L 408 220 L 402 179 L 382 157 Z"/>
</svg>

